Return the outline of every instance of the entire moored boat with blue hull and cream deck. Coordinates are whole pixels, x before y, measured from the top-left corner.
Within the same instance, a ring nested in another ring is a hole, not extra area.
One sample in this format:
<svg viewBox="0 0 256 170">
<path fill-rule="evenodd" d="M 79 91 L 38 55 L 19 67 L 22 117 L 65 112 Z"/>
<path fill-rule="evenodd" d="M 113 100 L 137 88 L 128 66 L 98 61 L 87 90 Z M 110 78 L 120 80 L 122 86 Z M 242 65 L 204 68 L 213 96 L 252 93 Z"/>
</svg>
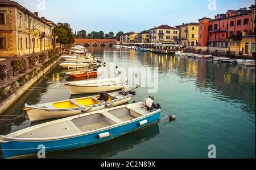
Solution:
<svg viewBox="0 0 256 170">
<path fill-rule="evenodd" d="M 0 135 L 4 158 L 71 150 L 105 142 L 158 122 L 160 109 L 148 111 L 142 102 L 59 119 Z"/>
</svg>

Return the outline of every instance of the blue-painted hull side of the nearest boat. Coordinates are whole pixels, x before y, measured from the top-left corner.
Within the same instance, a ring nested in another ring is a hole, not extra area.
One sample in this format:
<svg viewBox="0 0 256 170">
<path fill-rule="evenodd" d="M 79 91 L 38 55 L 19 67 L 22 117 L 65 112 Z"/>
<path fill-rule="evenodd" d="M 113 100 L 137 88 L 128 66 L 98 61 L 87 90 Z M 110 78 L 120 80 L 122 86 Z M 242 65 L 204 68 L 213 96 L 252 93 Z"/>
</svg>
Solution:
<svg viewBox="0 0 256 170">
<path fill-rule="evenodd" d="M 92 132 L 91 134 L 75 136 L 73 138 L 60 139 L 60 140 L 49 140 L 49 141 L 10 141 L 8 143 L 0 143 L 3 157 L 4 158 L 15 158 L 20 156 L 34 155 L 37 154 L 41 147 L 45 147 L 46 152 L 56 152 L 63 150 L 71 150 L 74 148 L 86 147 L 93 144 L 105 142 L 117 138 L 121 135 L 125 135 L 129 132 L 139 130 L 140 128 L 152 125 L 159 121 L 160 111 L 149 115 L 146 118 L 137 119 L 133 122 L 128 122 L 122 126 L 116 126 L 109 128 L 108 130 L 102 130 L 98 132 Z M 139 126 L 138 122 L 147 120 L 145 125 Z M 111 135 L 99 139 L 98 134 L 109 132 Z M 47 154 L 46 154 L 47 157 Z"/>
</svg>

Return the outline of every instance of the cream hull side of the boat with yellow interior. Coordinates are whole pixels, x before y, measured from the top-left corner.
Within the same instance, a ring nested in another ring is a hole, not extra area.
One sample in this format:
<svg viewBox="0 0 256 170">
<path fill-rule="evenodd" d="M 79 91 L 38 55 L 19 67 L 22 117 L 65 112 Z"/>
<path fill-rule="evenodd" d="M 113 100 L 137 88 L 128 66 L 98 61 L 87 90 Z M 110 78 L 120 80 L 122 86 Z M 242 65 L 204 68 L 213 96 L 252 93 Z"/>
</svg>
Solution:
<svg viewBox="0 0 256 170">
<path fill-rule="evenodd" d="M 43 121 L 45 119 L 56 119 L 56 118 L 65 118 L 65 117 L 71 117 L 73 115 L 78 115 L 82 113 L 88 113 L 89 111 L 97 111 L 101 109 L 107 109 L 110 107 L 115 107 L 122 105 L 124 103 L 127 103 L 131 100 L 131 97 L 120 99 L 119 101 L 115 101 L 113 103 L 106 102 L 106 103 L 100 103 L 98 106 L 90 107 L 89 110 L 86 110 L 86 108 L 75 108 L 75 109 L 67 109 L 67 110 L 46 110 L 46 109 L 35 109 L 31 107 L 25 107 L 27 110 L 28 117 L 30 118 L 31 122 L 35 121 Z M 106 107 L 106 104 L 109 106 Z M 89 106 L 88 106 L 89 107 Z"/>
</svg>

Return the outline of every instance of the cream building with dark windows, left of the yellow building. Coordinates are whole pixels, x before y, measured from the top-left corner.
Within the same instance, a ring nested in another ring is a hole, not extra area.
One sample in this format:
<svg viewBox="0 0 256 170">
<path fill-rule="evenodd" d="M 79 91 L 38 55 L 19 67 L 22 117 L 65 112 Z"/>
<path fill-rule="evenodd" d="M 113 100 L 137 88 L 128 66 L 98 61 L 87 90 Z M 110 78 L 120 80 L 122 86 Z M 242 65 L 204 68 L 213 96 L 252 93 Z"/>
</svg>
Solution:
<svg viewBox="0 0 256 170">
<path fill-rule="evenodd" d="M 149 31 L 150 43 L 175 44 L 175 39 L 180 35 L 179 28 L 168 25 L 154 27 Z"/>
</svg>

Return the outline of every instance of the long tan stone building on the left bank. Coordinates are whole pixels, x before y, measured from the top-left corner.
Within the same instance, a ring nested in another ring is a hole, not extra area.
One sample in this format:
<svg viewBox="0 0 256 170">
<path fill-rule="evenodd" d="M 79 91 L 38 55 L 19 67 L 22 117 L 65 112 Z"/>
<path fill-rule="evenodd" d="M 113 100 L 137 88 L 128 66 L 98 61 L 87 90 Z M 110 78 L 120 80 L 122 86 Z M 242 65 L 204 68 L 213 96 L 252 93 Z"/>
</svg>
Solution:
<svg viewBox="0 0 256 170">
<path fill-rule="evenodd" d="M 53 48 L 55 24 L 19 3 L 0 1 L 0 56 L 23 56 Z"/>
</svg>

